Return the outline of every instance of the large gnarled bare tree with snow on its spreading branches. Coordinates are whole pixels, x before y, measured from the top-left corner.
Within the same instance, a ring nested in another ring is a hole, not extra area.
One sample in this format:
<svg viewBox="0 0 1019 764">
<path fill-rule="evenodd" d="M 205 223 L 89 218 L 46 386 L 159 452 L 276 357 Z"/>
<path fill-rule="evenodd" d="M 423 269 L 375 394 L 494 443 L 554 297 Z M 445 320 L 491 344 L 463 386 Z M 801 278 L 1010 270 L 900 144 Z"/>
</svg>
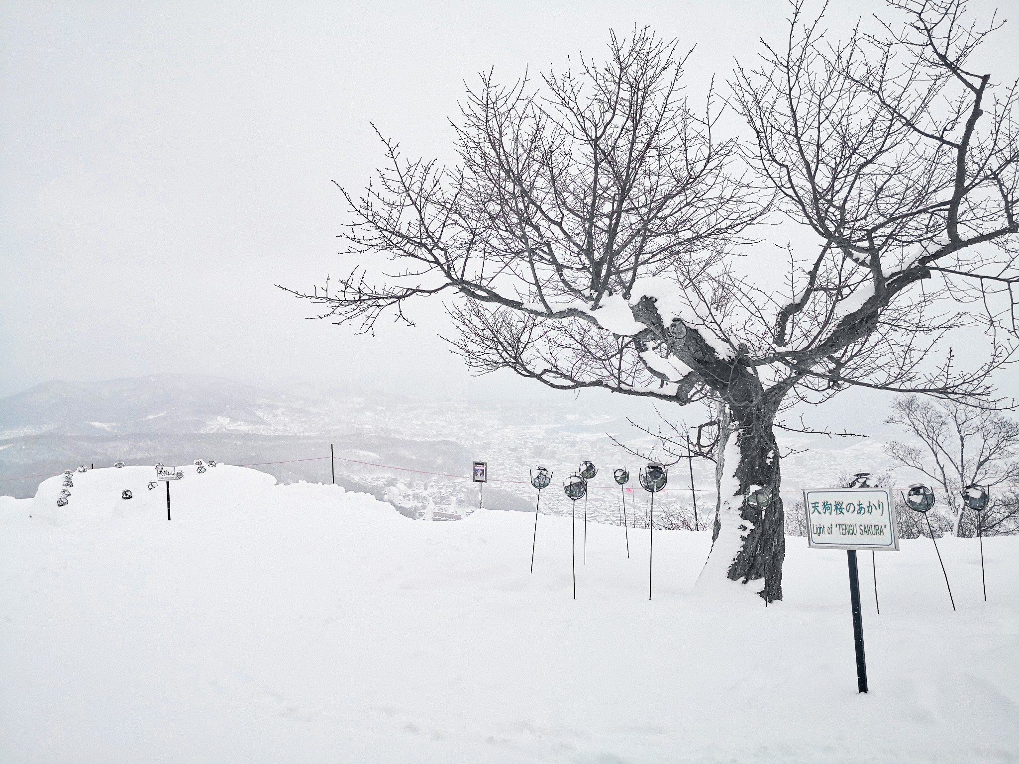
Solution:
<svg viewBox="0 0 1019 764">
<path fill-rule="evenodd" d="M 348 252 L 400 270 L 294 293 L 362 330 L 450 294 L 452 343 L 480 373 L 720 401 L 703 576 L 779 599 L 775 418 L 852 385 L 993 403 L 986 376 L 1012 352 L 1015 90 L 991 98 L 989 75 L 965 68 L 986 33 L 960 22 L 958 0 L 893 7 L 902 30 L 824 48 L 796 5 L 786 45 L 737 70 L 750 176 L 740 147 L 713 134 L 714 99 L 697 114 L 683 96 L 686 56 L 646 30 L 537 86 L 483 75 L 462 107 L 455 167 L 405 161 L 385 141 L 377 183 L 344 192 Z M 773 263 L 786 297 L 734 257 L 772 202 L 819 242 L 805 262 L 790 248 Z M 967 316 L 993 330 L 982 367 L 959 370 L 951 351 L 925 367 Z M 775 497 L 766 510 L 744 499 L 755 486 Z"/>
</svg>

